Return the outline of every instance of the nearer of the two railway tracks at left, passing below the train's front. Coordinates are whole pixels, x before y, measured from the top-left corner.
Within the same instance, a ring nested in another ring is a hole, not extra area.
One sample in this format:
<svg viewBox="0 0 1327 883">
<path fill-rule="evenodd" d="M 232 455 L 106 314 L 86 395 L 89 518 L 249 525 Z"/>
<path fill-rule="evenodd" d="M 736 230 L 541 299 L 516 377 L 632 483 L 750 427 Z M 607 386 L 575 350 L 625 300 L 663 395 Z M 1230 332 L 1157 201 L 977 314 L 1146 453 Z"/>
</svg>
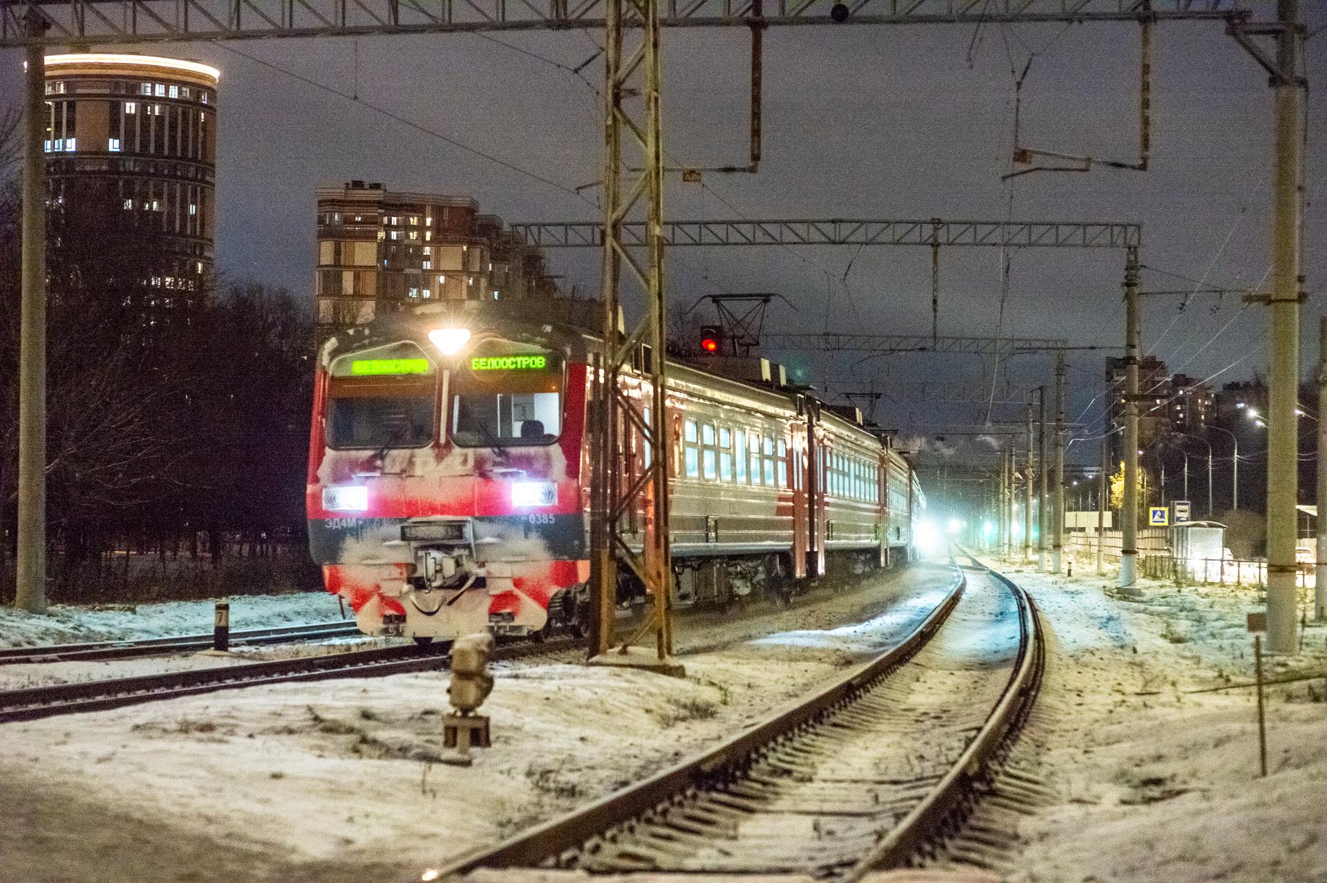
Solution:
<svg viewBox="0 0 1327 883">
<path fill-rule="evenodd" d="M 580 647 L 580 639 L 556 639 L 545 643 L 523 641 L 499 645 L 494 660 L 510 660 Z M 76 684 L 31 686 L 0 690 L 0 724 L 31 721 L 56 714 L 97 712 L 157 700 L 196 696 L 218 690 L 314 681 L 337 677 L 382 677 L 406 672 L 447 668 L 450 656 L 443 647 L 387 647 L 349 651 L 326 656 L 216 665 L 187 672 L 167 672 L 138 677 L 118 677 Z"/>
</svg>

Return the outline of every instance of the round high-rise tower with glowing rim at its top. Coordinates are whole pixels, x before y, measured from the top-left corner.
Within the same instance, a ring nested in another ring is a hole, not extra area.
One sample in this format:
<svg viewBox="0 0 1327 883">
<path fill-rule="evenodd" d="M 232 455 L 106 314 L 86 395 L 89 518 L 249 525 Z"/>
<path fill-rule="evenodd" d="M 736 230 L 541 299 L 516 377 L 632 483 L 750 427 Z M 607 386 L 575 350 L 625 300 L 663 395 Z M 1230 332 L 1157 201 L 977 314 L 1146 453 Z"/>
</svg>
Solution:
<svg viewBox="0 0 1327 883">
<path fill-rule="evenodd" d="M 218 78 L 216 68 L 180 58 L 46 56 L 52 208 L 151 222 L 161 252 L 142 280 L 146 309 L 191 299 L 211 283 Z"/>
</svg>

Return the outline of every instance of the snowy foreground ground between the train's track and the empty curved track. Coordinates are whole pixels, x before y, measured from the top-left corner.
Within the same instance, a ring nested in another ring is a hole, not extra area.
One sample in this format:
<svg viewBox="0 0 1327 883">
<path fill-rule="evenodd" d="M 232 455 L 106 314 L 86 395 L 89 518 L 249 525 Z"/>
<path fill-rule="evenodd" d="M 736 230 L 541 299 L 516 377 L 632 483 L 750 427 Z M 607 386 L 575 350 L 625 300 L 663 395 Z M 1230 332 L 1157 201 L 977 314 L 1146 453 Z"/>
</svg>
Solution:
<svg viewBox="0 0 1327 883">
<path fill-rule="evenodd" d="M 681 620 L 685 679 L 573 652 L 499 664 L 483 709 L 494 746 L 470 769 L 435 762 L 442 672 L 5 725 L 0 880 L 418 879 L 840 676 L 951 582 L 921 566 L 742 620 Z"/>
</svg>

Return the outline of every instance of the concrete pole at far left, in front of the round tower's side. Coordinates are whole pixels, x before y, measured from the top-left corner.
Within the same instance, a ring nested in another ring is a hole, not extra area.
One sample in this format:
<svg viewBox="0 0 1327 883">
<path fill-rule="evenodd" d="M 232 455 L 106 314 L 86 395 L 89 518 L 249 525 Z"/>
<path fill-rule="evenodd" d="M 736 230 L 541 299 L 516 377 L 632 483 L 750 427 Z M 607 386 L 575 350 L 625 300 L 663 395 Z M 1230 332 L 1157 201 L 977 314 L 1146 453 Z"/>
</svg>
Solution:
<svg viewBox="0 0 1327 883">
<path fill-rule="evenodd" d="M 28 37 L 45 27 L 36 8 Z M 15 605 L 46 609 L 46 60 L 25 49 L 23 106 L 23 304 L 19 309 L 19 556 Z"/>
</svg>

